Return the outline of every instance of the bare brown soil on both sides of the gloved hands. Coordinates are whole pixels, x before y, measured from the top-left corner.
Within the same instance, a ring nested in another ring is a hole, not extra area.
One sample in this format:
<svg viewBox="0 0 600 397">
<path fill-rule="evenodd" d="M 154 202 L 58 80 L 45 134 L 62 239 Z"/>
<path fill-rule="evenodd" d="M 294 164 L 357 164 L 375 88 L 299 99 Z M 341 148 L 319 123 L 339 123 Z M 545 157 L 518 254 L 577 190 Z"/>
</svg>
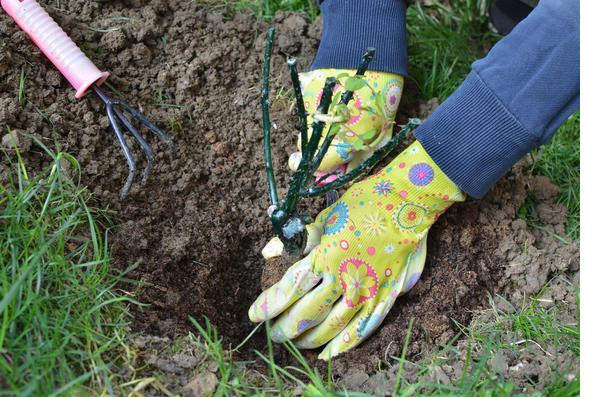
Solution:
<svg viewBox="0 0 600 397">
<path fill-rule="evenodd" d="M 247 309 L 261 291 L 265 262 L 260 250 L 272 234 L 259 102 L 268 25 L 249 14 L 221 14 L 192 1 L 66 0 L 61 9 L 56 2 L 42 3 L 94 62 L 112 73 L 113 94 L 139 106 L 168 131 L 177 152 L 171 157 L 150 139 L 157 153 L 153 175 L 146 186 L 134 185 L 130 196 L 119 201 L 127 166 L 100 103 L 92 96 L 76 100 L 6 14 L 0 15 L 0 125 L 9 126 L 23 142 L 21 149 L 33 167 L 43 166 L 46 156 L 29 136 L 51 147 L 58 142 L 61 150 L 76 155 L 83 184 L 100 206 L 115 211 L 114 264 L 133 266 L 129 277 L 141 282 L 123 288 L 150 304 L 136 310 L 136 331 L 173 337 L 192 329 L 189 316 L 206 316 L 226 343 L 239 343 L 254 328 Z M 289 93 L 277 88 L 290 87 L 287 56 L 309 66 L 320 24 L 296 14 L 278 14 L 274 24 L 273 155 L 283 188 L 289 177 L 287 156 L 295 150 L 296 118 Z M 434 107 L 419 104 L 408 87 L 399 121 L 424 116 Z M 141 169 L 143 157 L 136 154 Z M 0 175 L 6 175 L 8 162 L 0 166 Z M 411 318 L 409 353 L 416 354 L 449 342 L 458 333 L 454 322 L 468 324 L 473 312 L 488 306 L 489 294 L 509 283 L 546 281 L 551 272 L 546 268 L 540 270 L 546 272 L 542 276 L 529 277 L 525 267 L 506 274 L 514 259 L 506 247 L 521 227 L 515 218 L 527 195 L 524 170 L 516 167 L 484 200 L 456 205 L 440 219 L 429 233 L 421 281 L 372 338 L 335 360 L 337 373 L 359 364 L 370 373 L 381 360 L 399 355 Z M 306 205 L 306 212 L 316 215 L 324 202 Z M 499 250 L 507 254 L 498 255 Z M 538 284 L 530 290 L 536 288 Z M 244 354 L 264 346 L 259 333 Z M 311 362 L 317 353 L 307 353 Z M 281 347 L 275 355 L 280 362 L 289 361 Z"/>
</svg>

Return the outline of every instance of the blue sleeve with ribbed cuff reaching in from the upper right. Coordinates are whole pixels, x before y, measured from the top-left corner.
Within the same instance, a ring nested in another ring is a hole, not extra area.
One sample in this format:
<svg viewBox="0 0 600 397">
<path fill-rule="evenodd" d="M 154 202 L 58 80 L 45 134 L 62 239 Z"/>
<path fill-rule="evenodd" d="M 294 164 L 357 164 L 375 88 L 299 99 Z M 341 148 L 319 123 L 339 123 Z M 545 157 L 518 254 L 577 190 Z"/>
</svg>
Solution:
<svg viewBox="0 0 600 397">
<path fill-rule="evenodd" d="M 541 0 L 416 136 L 452 181 L 480 198 L 578 108 L 579 0 Z"/>
</svg>

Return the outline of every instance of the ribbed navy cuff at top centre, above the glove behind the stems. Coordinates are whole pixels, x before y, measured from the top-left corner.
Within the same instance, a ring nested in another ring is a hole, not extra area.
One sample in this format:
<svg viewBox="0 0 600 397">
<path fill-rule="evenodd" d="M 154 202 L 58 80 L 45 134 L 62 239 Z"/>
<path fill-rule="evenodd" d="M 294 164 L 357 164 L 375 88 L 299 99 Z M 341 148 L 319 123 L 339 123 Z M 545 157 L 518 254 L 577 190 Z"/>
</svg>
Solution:
<svg viewBox="0 0 600 397">
<path fill-rule="evenodd" d="M 404 0 L 325 0 L 321 13 L 321 45 L 311 70 L 356 69 L 373 47 L 370 70 L 407 75 Z"/>
</svg>

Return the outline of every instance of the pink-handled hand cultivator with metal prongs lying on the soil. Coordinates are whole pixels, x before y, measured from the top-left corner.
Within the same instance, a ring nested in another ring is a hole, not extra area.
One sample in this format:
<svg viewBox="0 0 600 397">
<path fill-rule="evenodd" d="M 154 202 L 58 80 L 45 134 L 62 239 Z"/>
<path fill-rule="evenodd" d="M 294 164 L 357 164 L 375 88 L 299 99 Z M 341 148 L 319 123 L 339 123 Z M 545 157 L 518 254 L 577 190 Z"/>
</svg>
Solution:
<svg viewBox="0 0 600 397">
<path fill-rule="evenodd" d="M 137 174 L 134 156 L 125 140 L 127 132 L 138 142 L 146 155 L 147 165 L 142 178 L 142 184 L 145 183 L 152 171 L 154 152 L 126 113 L 148 127 L 173 150 L 174 143 L 171 138 L 139 111 L 119 99 L 112 99 L 100 88 L 109 73 L 100 71 L 35 0 L 1 0 L 1 4 L 8 15 L 29 35 L 35 45 L 75 88 L 75 98 L 81 98 L 89 91 L 93 91 L 104 104 L 110 125 L 129 166 L 129 175 L 121 190 L 121 198 L 129 193 Z"/>
</svg>

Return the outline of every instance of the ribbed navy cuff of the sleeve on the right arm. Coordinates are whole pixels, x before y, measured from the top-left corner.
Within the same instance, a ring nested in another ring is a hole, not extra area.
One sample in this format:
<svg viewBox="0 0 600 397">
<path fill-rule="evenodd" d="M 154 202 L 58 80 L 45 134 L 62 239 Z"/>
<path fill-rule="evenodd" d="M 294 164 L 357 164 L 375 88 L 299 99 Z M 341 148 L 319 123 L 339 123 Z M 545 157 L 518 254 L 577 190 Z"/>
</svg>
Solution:
<svg viewBox="0 0 600 397">
<path fill-rule="evenodd" d="M 481 198 L 521 157 L 539 146 L 476 72 L 415 135 L 464 192 Z"/>
</svg>

